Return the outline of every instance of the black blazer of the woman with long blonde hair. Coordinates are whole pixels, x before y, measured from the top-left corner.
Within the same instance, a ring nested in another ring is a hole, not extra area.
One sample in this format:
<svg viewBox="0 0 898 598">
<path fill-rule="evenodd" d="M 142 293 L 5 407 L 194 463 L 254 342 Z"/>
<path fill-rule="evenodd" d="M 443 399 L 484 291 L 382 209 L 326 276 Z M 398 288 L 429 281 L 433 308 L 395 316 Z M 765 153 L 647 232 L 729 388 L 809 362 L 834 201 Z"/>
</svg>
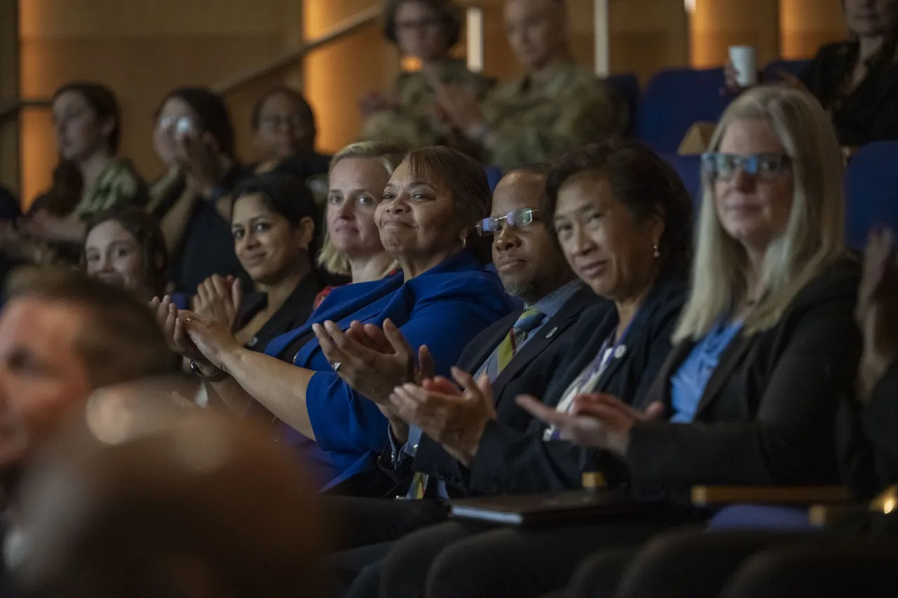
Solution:
<svg viewBox="0 0 898 598">
<path fill-rule="evenodd" d="M 640 497 L 685 498 L 696 484 L 826 484 L 838 481 L 833 422 L 853 390 L 860 334 L 853 312 L 860 268 L 842 259 L 802 289 L 779 323 L 737 336 L 720 356 L 690 425 L 636 424 L 631 488 Z M 671 353 L 638 406 L 663 401 L 693 342 Z"/>
</svg>

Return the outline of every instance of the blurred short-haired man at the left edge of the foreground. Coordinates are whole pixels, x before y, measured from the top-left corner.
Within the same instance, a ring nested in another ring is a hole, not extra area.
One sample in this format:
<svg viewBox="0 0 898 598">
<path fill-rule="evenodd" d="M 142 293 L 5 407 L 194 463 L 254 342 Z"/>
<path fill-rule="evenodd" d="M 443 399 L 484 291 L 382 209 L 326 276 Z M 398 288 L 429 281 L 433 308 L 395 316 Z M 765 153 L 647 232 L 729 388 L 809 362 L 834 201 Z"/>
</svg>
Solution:
<svg viewBox="0 0 898 598">
<path fill-rule="evenodd" d="M 145 304 L 77 270 L 23 268 L 10 277 L 6 297 L 0 312 L 0 486 L 6 499 L 0 569 L 22 556 L 10 528 L 22 506 L 22 475 L 36 453 L 94 389 L 169 374 L 172 355 Z M 6 577 L 0 570 L 0 585 Z"/>
</svg>

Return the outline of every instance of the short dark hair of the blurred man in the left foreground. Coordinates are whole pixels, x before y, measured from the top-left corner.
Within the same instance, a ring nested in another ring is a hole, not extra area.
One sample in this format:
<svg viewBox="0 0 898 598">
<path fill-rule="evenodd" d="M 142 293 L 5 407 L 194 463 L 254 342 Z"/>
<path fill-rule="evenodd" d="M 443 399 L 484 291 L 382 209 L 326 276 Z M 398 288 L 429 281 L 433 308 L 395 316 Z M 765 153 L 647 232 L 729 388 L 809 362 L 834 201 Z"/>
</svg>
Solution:
<svg viewBox="0 0 898 598">
<path fill-rule="evenodd" d="M 39 297 L 87 313 L 75 350 L 94 388 L 172 372 L 172 352 L 158 322 L 123 288 L 75 269 L 27 267 L 10 276 L 6 297 Z"/>
</svg>

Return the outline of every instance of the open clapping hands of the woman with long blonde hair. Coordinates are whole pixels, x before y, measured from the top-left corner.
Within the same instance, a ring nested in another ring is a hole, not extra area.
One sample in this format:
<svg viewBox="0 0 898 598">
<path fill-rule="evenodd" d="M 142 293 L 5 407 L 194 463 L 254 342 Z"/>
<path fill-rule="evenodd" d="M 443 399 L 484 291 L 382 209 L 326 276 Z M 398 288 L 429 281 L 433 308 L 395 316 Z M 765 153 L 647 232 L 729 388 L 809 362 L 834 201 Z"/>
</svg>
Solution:
<svg viewBox="0 0 898 598">
<path fill-rule="evenodd" d="M 661 418 L 665 413 L 664 405 L 658 402 L 639 411 L 616 397 L 601 393 L 577 396 L 569 413 L 543 405 L 529 395 L 519 396 L 516 401 L 534 418 L 554 426 L 562 440 L 611 451 L 621 457 L 627 456 L 633 425 Z"/>
</svg>

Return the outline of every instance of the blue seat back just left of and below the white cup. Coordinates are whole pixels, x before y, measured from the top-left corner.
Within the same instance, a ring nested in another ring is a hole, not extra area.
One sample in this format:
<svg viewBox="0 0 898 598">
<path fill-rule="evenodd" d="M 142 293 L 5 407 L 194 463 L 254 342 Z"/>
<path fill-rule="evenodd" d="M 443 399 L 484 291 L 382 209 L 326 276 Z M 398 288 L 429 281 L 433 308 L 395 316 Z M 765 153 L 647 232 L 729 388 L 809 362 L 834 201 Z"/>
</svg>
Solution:
<svg viewBox="0 0 898 598">
<path fill-rule="evenodd" d="M 693 123 L 717 122 L 732 98 L 720 94 L 723 69 L 660 71 L 647 84 L 634 134 L 656 152 L 674 154 Z"/>
</svg>

